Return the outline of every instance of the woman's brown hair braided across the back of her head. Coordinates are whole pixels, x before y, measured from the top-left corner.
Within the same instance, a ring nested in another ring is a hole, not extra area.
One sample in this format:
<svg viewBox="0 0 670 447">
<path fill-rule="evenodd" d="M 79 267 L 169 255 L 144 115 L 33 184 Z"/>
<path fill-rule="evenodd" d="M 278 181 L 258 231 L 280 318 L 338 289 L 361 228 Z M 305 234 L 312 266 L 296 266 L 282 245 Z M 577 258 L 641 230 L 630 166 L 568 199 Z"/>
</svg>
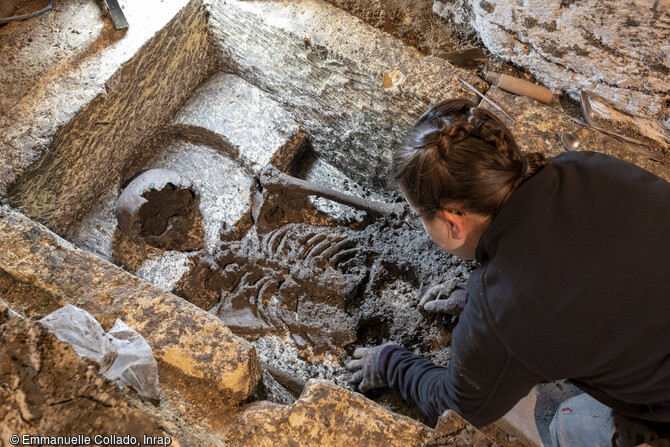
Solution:
<svg viewBox="0 0 670 447">
<path fill-rule="evenodd" d="M 393 155 L 392 175 L 419 212 L 453 204 L 495 216 L 509 195 L 548 161 L 521 153 L 492 113 L 466 99 L 443 101 L 410 130 Z"/>
</svg>

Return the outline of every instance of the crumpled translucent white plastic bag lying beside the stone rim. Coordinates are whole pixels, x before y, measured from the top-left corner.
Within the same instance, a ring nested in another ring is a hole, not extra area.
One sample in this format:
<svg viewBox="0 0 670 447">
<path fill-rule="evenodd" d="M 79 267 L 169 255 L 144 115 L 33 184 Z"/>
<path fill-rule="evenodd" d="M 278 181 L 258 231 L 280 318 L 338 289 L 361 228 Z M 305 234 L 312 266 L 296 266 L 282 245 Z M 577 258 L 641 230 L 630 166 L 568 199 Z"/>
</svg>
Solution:
<svg viewBox="0 0 670 447">
<path fill-rule="evenodd" d="M 89 357 L 99 372 L 119 386 L 132 386 L 141 396 L 158 399 L 158 365 L 151 346 L 139 332 L 117 319 L 108 334 L 84 309 L 71 304 L 40 320 L 77 355 Z"/>
</svg>

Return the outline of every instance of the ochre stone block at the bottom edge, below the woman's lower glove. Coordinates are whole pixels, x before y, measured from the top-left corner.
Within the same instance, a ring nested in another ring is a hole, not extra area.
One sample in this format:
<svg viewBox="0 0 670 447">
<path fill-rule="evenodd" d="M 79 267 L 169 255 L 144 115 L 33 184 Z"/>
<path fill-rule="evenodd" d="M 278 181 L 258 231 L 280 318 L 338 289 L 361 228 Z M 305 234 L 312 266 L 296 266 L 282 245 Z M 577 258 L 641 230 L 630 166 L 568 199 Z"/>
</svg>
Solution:
<svg viewBox="0 0 670 447">
<path fill-rule="evenodd" d="M 231 430 L 233 446 L 409 446 L 421 445 L 432 430 L 388 412 L 357 393 L 310 380 L 291 406 L 259 403 Z"/>
</svg>

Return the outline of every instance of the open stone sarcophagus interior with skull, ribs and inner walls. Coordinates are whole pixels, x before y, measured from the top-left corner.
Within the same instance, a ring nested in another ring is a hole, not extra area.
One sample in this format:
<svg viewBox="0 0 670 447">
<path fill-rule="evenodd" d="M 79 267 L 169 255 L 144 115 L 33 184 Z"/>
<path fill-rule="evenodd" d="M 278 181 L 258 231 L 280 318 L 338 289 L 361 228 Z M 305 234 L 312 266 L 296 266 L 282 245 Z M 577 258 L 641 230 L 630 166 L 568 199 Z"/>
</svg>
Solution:
<svg viewBox="0 0 670 447">
<path fill-rule="evenodd" d="M 333 46 L 333 30 L 308 18 L 297 26 L 309 39 L 264 19 L 304 10 L 190 2 L 57 132 L 9 202 L 217 316 L 270 368 L 351 389 L 344 363 L 361 345 L 393 340 L 446 361 L 451 321 L 417 303 L 472 266 L 404 225 L 407 208 L 384 180 L 435 89 L 417 79 L 389 93 L 379 67 L 418 53 L 334 8 L 388 59 Z M 280 175 L 363 205 L 299 193 Z"/>
</svg>

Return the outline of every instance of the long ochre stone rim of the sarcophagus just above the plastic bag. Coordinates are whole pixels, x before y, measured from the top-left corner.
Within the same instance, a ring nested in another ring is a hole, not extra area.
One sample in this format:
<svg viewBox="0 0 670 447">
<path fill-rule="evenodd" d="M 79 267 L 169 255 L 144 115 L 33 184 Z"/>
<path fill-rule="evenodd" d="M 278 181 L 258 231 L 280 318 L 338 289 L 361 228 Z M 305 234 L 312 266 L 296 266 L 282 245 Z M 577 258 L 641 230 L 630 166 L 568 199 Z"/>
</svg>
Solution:
<svg viewBox="0 0 670 447">
<path fill-rule="evenodd" d="M 255 351 L 214 316 L 77 250 L 7 206 L 0 229 L 0 245 L 12 247 L 0 254 L 0 269 L 61 305 L 87 310 L 103 328 L 121 318 L 149 342 L 159 372 L 171 367 L 181 375 L 185 394 L 234 405 L 253 393 L 261 375 Z"/>
</svg>

